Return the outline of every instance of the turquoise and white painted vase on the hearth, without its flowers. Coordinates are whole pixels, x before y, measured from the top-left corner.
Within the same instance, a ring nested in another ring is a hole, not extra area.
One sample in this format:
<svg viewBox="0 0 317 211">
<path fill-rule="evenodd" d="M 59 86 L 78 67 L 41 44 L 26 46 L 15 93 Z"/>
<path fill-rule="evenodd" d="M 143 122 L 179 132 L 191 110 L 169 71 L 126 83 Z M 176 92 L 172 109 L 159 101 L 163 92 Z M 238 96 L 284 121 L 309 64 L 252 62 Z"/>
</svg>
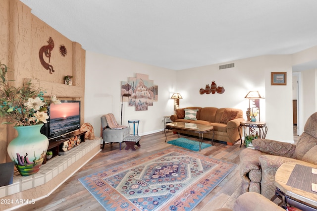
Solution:
<svg viewBox="0 0 317 211">
<path fill-rule="evenodd" d="M 49 147 L 49 139 L 41 134 L 43 124 L 15 126 L 18 136 L 8 145 L 7 151 L 22 176 L 40 170 Z"/>
</svg>

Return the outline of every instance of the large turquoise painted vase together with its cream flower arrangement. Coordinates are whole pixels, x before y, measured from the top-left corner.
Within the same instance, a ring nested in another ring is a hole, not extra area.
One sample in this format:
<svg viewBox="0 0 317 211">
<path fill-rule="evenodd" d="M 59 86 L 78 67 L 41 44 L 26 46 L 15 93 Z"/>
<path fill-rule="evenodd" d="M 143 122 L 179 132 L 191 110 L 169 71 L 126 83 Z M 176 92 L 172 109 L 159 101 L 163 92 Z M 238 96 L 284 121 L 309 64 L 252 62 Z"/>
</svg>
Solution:
<svg viewBox="0 0 317 211">
<path fill-rule="evenodd" d="M 40 170 L 49 146 L 48 138 L 40 133 L 47 123 L 49 102 L 60 104 L 56 96 L 44 101 L 44 91 L 35 89 L 29 82 L 21 87 L 12 86 L 6 79 L 8 68 L 0 60 L 0 117 L 2 124 L 15 123 L 18 136 L 7 147 L 8 156 L 22 176 Z"/>
</svg>

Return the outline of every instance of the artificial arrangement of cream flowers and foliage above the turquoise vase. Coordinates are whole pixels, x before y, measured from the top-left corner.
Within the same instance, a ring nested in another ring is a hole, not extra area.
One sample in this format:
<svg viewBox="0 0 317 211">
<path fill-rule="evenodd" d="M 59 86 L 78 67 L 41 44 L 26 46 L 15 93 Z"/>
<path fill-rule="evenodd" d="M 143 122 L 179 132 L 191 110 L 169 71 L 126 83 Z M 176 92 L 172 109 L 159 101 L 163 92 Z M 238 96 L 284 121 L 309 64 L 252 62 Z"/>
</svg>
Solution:
<svg viewBox="0 0 317 211">
<path fill-rule="evenodd" d="M 44 91 L 33 90 L 29 82 L 22 87 L 10 85 L 6 79 L 8 68 L 0 61 L 0 117 L 7 121 L 2 124 L 16 123 L 16 126 L 27 126 L 47 123 L 48 102 L 44 101 Z M 51 102 L 61 104 L 56 96 L 51 97 Z"/>
</svg>

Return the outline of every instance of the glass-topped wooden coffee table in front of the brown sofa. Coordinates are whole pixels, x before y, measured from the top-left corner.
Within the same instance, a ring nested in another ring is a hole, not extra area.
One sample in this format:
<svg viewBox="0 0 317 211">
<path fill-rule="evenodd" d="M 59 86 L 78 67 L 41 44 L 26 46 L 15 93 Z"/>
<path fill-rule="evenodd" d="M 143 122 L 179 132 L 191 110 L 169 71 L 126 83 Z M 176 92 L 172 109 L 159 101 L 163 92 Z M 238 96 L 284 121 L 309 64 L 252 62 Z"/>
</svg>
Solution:
<svg viewBox="0 0 317 211">
<path fill-rule="evenodd" d="M 183 131 L 192 131 L 194 133 L 199 133 L 199 151 L 201 151 L 202 142 L 204 139 L 204 133 L 212 131 L 212 139 L 211 144 L 213 143 L 213 126 L 205 125 L 205 124 L 194 124 L 194 123 L 187 123 L 187 122 L 171 122 L 166 124 L 166 129 L 178 129 Z M 164 130 L 165 133 L 165 130 Z M 178 133 L 179 138 L 179 133 Z M 165 142 L 166 142 L 166 133 L 165 133 Z"/>
</svg>

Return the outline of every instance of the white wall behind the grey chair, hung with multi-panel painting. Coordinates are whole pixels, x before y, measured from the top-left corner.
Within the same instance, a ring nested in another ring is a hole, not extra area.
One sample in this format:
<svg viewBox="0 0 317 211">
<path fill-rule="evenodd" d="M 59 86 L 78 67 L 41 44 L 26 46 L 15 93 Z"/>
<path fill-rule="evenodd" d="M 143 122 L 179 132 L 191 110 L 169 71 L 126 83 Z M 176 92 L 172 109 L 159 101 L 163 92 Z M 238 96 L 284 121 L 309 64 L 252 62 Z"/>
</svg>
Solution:
<svg viewBox="0 0 317 211">
<path fill-rule="evenodd" d="M 93 125 L 96 136 L 100 136 L 102 115 L 113 113 L 120 124 L 120 82 L 128 81 L 128 77 L 135 77 L 136 73 L 149 75 L 149 79 L 154 80 L 159 86 L 159 100 L 147 111 L 135 111 L 135 107 L 123 102 L 122 124 L 127 125 L 128 119 L 140 119 L 140 135 L 162 131 L 163 116 L 173 113 L 173 101 L 169 98 L 176 87 L 176 71 L 86 52 L 85 122 Z"/>
</svg>

